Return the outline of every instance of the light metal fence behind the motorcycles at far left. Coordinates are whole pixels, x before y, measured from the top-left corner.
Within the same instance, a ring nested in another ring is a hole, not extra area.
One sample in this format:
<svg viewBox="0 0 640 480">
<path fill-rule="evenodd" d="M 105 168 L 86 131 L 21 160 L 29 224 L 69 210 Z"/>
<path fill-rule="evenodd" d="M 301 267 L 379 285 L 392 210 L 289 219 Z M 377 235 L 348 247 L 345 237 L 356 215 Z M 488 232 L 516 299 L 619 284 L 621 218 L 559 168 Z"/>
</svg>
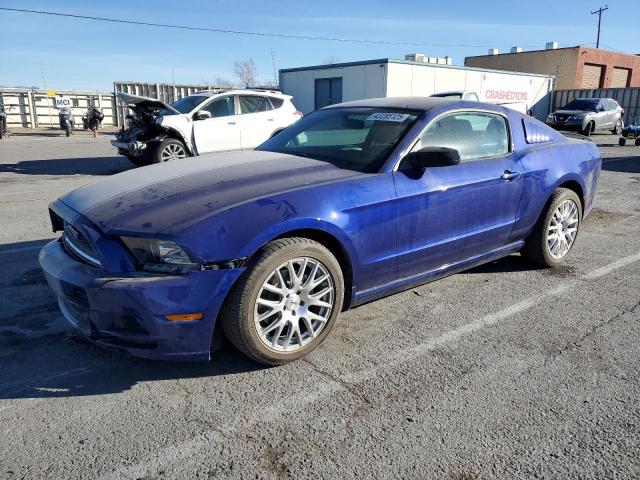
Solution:
<svg viewBox="0 0 640 480">
<path fill-rule="evenodd" d="M 55 93 L 71 99 L 71 112 L 76 126 L 82 126 L 82 115 L 85 114 L 89 105 L 102 109 L 103 126 L 116 125 L 116 104 L 113 93 L 75 90 Z M 44 90 L 3 88 L 0 89 L 0 103 L 5 107 L 9 127 L 36 128 L 59 125 L 55 97 L 49 96 L 49 92 Z"/>
</svg>

